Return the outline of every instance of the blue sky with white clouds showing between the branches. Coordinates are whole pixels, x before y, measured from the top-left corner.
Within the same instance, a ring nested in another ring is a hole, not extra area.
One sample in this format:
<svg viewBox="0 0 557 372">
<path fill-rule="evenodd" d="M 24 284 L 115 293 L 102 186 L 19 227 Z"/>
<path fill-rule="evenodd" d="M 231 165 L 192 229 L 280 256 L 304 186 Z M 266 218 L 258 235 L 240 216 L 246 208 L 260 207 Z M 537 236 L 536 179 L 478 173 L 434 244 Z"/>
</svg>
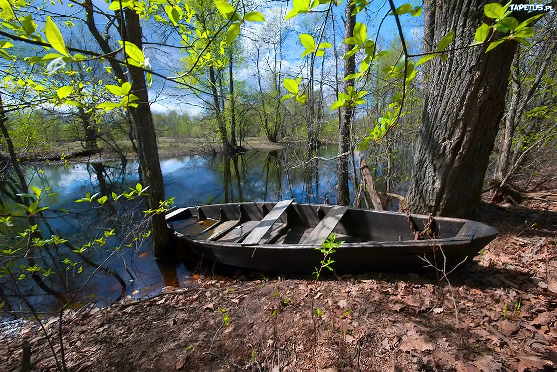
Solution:
<svg viewBox="0 0 557 372">
<path fill-rule="evenodd" d="M 212 0 L 206 0 L 211 1 Z M 344 25 L 341 17 L 344 17 L 344 9 L 345 9 L 345 0 L 340 6 L 333 7 L 333 14 L 335 17 L 335 33 L 336 33 L 336 42 L 337 42 L 337 50 L 339 55 L 341 56 L 344 52 L 344 46 L 341 43 L 341 40 L 344 38 Z M 104 0 L 93 0 L 94 5 L 101 9 L 104 12 L 111 13 L 109 11 L 108 6 L 109 4 L 106 3 Z M 405 3 L 405 1 L 395 1 L 395 6 L 400 6 L 401 4 Z M 36 3 L 35 3 L 36 4 Z M 73 30 L 79 27 L 85 27 L 84 22 L 80 21 L 79 18 L 85 17 L 85 12 L 82 7 L 78 5 L 73 5 L 70 7 L 69 2 L 67 1 L 58 1 L 55 4 L 51 5 L 50 2 L 43 0 L 43 7 L 48 12 L 58 13 L 58 14 L 65 14 L 68 16 L 76 17 L 74 21 L 75 25 Z M 251 10 L 261 11 L 263 15 L 265 15 L 268 21 L 271 20 L 273 17 L 278 17 L 282 13 L 282 15 L 286 15 L 288 11 L 292 8 L 292 3 L 283 3 L 283 2 L 267 2 L 262 3 L 265 7 L 254 7 Z M 321 5 L 317 8 L 318 11 L 326 9 L 327 5 Z M 368 37 L 371 37 L 377 32 L 377 27 L 379 25 L 380 20 L 383 18 L 385 13 L 388 12 L 389 4 L 387 0 L 383 0 L 382 2 L 372 1 L 369 4 L 366 11 L 360 12 L 356 16 L 357 22 L 363 22 L 368 26 Z M 48 12 L 44 12 L 43 16 L 48 15 Z M 164 14 L 164 13 L 163 13 Z M 55 15 L 53 16 L 53 20 L 57 21 Z M 282 57 L 282 66 L 283 71 L 282 73 L 284 76 L 288 77 L 295 77 L 300 76 L 301 73 L 301 66 L 304 64 L 304 61 L 301 59 L 300 55 L 304 50 L 304 47 L 301 45 L 299 40 L 299 33 L 317 33 L 317 30 L 313 30 L 311 28 L 311 23 L 315 21 L 319 25 L 324 19 L 324 13 L 311 13 L 311 14 L 302 14 L 292 18 L 289 21 L 285 21 L 285 26 L 290 30 L 289 37 L 287 38 L 286 42 L 284 43 L 284 54 Z M 423 35 L 423 16 L 421 17 L 411 17 L 410 15 L 403 15 L 400 17 L 403 25 L 403 33 L 405 40 L 407 40 L 407 44 L 409 44 L 411 50 L 417 51 L 421 48 L 421 39 Z M 43 22 L 41 22 L 41 17 L 36 16 L 35 21 L 39 24 L 39 27 L 43 26 Z M 99 14 L 95 15 L 95 22 L 97 24 L 97 28 L 99 31 L 104 30 L 106 25 L 107 19 Z M 149 20 L 145 22 L 145 24 L 153 25 L 153 20 Z M 235 69 L 235 79 L 237 81 L 246 81 L 247 85 L 254 85 L 255 81 L 253 79 L 253 75 L 255 75 L 256 66 L 253 63 L 253 50 L 256 47 L 257 42 L 253 42 L 251 39 L 257 38 L 258 35 L 265 32 L 266 26 L 264 23 L 267 22 L 246 22 L 242 25 L 242 31 L 240 36 L 240 43 L 243 49 L 243 63 L 241 65 L 236 66 Z M 71 30 L 66 28 L 66 26 L 62 22 L 58 22 L 58 26 L 60 27 L 63 36 L 65 37 L 66 42 L 70 40 L 70 33 Z M 328 30 L 329 37 L 327 40 L 332 44 L 333 40 L 330 39 L 330 34 L 332 33 L 332 26 L 331 22 L 328 22 Z M 149 27 L 144 27 L 145 38 L 148 41 L 159 41 L 156 40 L 155 33 L 150 31 Z M 388 16 L 385 21 L 383 22 L 382 29 L 379 33 L 379 41 L 378 44 L 380 46 L 388 46 L 390 41 L 393 40 L 395 36 L 398 35 L 397 28 L 395 25 L 394 17 Z M 173 45 L 179 45 L 178 43 L 178 34 L 174 32 L 170 34 L 167 43 Z M 223 35 L 224 37 L 224 35 Z M 375 37 L 375 36 L 373 36 Z M 113 37 L 111 42 L 115 43 L 119 38 Z M 264 45 L 263 48 L 266 46 Z M 332 51 L 329 49 L 326 51 L 326 64 L 325 69 L 328 73 L 333 71 L 334 74 L 334 58 L 332 57 Z M 146 46 L 145 49 L 146 57 L 149 57 L 150 61 L 152 62 L 153 69 L 158 73 L 164 74 L 166 76 L 173 76 L 177 73 L 178 69 L 178 61 L 180 57 L 184 56 L 183 52 L 180 52 L 179 49 L 174 49 L 171 47 L 150 47 Z M 106 62 L 108 65 L 108 62 Z M 316 67 L 320 67 L 321 61 L 317 59 Z M 340 71 L 343 66 L 343 61 L 339 61 Z M 263 68 L 262 71 L 265 69 Z M 152 100 L 152 108 L 154 111 L 167 111 L 167 110 L 175 110 L 177 112 L 183 112 L 187 110 L 192 114 L 196 114 L 202 111 L 198 105 L 201 105 L 202 102 L 197 99 L 195 96 L 183 96 L 188 92 L 184 89 L 177 89 L 176 85 L 169 81 L 164 81 L 163 79 L 156 78 L 154 79 L 154 84 L 151 90 L 149 91 L 150 99 Z"/>
</svg>

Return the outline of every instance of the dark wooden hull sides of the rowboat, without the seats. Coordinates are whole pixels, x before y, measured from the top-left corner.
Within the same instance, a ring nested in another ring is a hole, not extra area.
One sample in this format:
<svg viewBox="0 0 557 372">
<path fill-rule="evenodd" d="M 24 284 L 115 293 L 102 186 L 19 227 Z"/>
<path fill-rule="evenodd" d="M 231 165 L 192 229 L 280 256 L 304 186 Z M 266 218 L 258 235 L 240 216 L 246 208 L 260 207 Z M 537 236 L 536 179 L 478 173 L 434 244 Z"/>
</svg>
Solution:
<svg viewBox="0 0 557 372">
<path fill-rule="evenodd" d="M 359 210 L 359 209 L 352 209 Z M 371 218 L 385 216 L 404 216 L 395 212 L 363 210 L 372 213 Z M 359 212 L 359 211 L 358 211 Z M 423 226 L 428 216 L 413 215 Z M 436 218 L 436 220 L 443 218 Z M 404 241 L 363 241 L 343 243 L 330 255 L 334 260 L 331 267 L 339 273 L 434 272 L 429 263 L 438 268 L 452 270 L 457 265 L 463 267 L 480 252 L 492 239 L 497 230 L 476 221 L 448 219 L 462 224 L 456 236 L 434 240 Z M 446 224 L 447 225 L 447 224 Z M 408 225 L 405 226 L 407 229 Z M 350 228 L 340 228 L 346 233 Z M 174 230 L 174 235 L 199 258 L 239 268 L 262 270 L 266 272 L 311 273 L 319 267 L 324 255 L 319 249 L 321 244 L 256 244 L 209 241 L 196 239 Z M 435 248 L 435 249 L 434 249 Z M 435 255 L 433 254 L 435 250 Z"/>
</svg>

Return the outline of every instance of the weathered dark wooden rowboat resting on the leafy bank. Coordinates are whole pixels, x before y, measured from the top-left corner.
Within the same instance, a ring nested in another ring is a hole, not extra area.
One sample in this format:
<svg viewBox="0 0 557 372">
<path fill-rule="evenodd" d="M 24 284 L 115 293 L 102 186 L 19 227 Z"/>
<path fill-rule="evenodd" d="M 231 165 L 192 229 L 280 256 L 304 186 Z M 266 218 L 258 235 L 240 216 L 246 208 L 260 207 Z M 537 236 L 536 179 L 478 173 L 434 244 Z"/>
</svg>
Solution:
<svg viewBox="0 0 557 372">
<path fill-rule="evenodd" d="M 344 241 L 331 255 L 337 272 L 433 271 L 420 257 L 449 270 L 470 262 L 497 235 L 472 220 L 292 200 L 179 208 L 167 212 L 166 220 L 204 260 L 273 272 L 313 272 L 323 260 L 315 248 L 331 233 Z M 428 221 L 438 236 L 414 240 L 411 225 L 421 231 Z M 433 247 L 441 248 L 435 258 Z"/>
</svg>

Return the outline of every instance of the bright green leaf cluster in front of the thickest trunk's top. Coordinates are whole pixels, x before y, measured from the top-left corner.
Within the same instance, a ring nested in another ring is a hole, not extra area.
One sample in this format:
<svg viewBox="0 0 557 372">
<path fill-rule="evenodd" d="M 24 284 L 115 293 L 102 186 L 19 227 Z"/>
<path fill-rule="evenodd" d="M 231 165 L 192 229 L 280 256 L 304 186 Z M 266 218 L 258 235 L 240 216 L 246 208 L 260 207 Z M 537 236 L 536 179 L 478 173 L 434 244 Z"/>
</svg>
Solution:
<svg viewBox="0 0 557 372">
<path fill-rule="evenodd" d="M 510 17 L 511 11 L 507 11 L 511 2 L 506 5 L 501 5 L 499 3 L 489 3 L 483 7 L 483 13 L 489 18 L 495 19 L 495 25 L 488 26 L 486 23 L 482 23 L 480 27 L 477 28 L 474 34 L 474 42 L 471 45 L 483 44 L 488 36 L 494 32 L 499 31 L 500 33 L 509 34 L 508 36 L 501 37 L 494 40 L 487 47 L 486 52 L 495 49 L 498 45 L 502 44 L 506 40 L 516 40 L 525 45 L 531 45 L 525 37 L 534 36 L 534 29 L 529 27 L 531 23 L 539 20 L 545 15 L 545 13 L 536 15 L 534 17 L 528 18 L 523 22 L 518 22 L 516 18 Z"/>
</svg>

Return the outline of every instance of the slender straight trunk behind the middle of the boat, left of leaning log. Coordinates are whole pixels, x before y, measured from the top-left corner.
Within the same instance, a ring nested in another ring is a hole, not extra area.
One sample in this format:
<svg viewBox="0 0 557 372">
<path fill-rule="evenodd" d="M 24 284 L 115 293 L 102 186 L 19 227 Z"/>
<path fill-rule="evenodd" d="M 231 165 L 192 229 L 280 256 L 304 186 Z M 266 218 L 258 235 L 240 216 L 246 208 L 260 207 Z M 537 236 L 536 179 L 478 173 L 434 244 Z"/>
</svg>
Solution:
<svg viewBox="0 0 557 372">
<path fill-rule="evenodd" d="M 350 1 L 346 2 L 344 11 L 344 37 L 351 37 L 354 33 L 354 26 L 356 24 L 356 16 L 351 16 L 354 10 L 354 5 L 350 5 Z M 353 45 L 345 44 L 344 51 L 349 52 Z M 354 55 L 344 60 L 344 77 L 354 74 Z M 354 84 L 354 80 L 344 81 L 344 93 L 348 93 L 348 86 Z M 339 205 L 348 205 L 350 202 L 350 192 L 348 190 L 348 155 L 343 155 L 348 152 L 349 147 L 349 130 L 350 123 L 352 122 L 353 109 L 351 107 L 340 108 L 340 122 L 339 122 L 339 160 L 337 163 L 337 176 L 336 176 L 336 199 Z"/>
</svg>

